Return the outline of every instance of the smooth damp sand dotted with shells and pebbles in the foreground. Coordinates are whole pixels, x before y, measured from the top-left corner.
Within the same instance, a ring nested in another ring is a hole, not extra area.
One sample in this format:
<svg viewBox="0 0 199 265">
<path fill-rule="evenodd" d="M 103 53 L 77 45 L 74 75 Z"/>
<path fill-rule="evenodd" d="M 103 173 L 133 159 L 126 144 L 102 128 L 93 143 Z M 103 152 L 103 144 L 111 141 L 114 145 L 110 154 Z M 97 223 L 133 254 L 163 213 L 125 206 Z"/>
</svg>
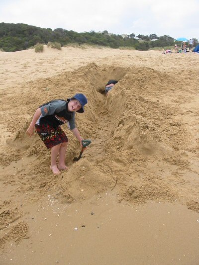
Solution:
<svg viewBox="0 0 199 265">
<path fill-rule="evenodd" d="M 178 203 L 132 206 L 117 198 L 103 193 L 63 205 L 45 196 L 23 218 L 30 238 L 11 243 L 2 264 L 198 263 L 197 213 Z"/>
</svg>

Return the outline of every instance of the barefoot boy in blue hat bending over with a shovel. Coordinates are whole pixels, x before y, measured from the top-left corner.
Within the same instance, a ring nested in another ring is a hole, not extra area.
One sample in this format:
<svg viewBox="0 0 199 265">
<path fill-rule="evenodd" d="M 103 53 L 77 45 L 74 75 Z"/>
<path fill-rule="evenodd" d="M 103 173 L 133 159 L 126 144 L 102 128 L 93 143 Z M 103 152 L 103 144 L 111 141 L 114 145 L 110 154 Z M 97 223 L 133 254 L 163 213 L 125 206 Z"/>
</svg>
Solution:
<svg viewBox="0 0 199 265">
<path fill-rule="evenodd" d="M 87 104 L 87 98 L 84 94 L 75 94 L 67 100 L 55 99 L 41 105 L 36 111 L 26 133 L 29 137 L 33 135 L 34 127 L 44 142 L 45 146 L 51 148 L 50 169 L 53 174 L 60 174 L 61 170 L 67 170 L 65 165 L 65 154 L 68 144 L 68 138 L 60 125 L 69 122 L 70 130 L 82 145 L 82 137 L 75 125 L 75 111 L 84 112 L 84 106 Z M 59 155 L 58 166 L 56 163 Z"/>
</svg>

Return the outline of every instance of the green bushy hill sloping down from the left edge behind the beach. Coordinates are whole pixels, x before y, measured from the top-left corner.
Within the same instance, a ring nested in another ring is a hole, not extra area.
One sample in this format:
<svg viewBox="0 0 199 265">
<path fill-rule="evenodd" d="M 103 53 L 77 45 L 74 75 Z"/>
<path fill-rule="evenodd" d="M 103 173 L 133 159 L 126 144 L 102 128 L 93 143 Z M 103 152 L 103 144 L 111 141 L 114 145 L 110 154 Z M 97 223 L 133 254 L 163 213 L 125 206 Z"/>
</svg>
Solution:
<svg viewBox="0 0 199 265">
<path fill-rule="evenodd" d="M 57 28 L 40 28 L 27 24 L 0 23 L 0 48 L 5 52 L 21 51 L 37 43 L 47 44 L 59 42 L 61 45 L 76 42 L 88 43 L 118 48 L 119 46 L 134 46 L 139 43 L 135 39 L 124 40 L 120 35 L 103 35 L 96 32 L 78 33 L 73 30 Z"/>
</svg>

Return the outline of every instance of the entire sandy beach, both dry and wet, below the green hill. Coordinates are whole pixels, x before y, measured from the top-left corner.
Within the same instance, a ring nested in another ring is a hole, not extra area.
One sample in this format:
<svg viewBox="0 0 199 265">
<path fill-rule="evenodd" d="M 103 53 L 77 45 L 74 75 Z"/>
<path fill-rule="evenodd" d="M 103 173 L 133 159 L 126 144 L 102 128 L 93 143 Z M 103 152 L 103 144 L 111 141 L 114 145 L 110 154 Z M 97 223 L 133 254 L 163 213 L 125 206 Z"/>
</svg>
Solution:
<svg viewBox="0 0 199 265">
<path fill-rule="evenodd" d="M 199 264 L 198 73 L 194 53 L 0 52 L 0 264 Z M 92 144 L 74 164 L 63 126 L 69 170 L 54 176 L 25 131 L 40 104 L 76 92 Z"/>
</svg>

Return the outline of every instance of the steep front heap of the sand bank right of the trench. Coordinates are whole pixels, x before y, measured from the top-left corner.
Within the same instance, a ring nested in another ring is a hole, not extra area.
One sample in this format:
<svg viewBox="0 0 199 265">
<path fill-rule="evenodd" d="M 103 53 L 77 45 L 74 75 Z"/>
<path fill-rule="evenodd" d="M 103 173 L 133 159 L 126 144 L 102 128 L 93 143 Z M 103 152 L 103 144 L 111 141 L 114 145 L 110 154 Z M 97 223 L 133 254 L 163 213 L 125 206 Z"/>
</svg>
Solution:
<svg viewBox="0 0 199 265">
<path fill-rule="evenodd" d="M 131 116 L 132 115 L 132 116 Z M 161 139 L 158 127 L 152 121 L 136 116 L 132 111 L 122 113 L 108 148 L 120 149 L 121 152 L 137 152 L 147 155 L 165 156 L 172 153 Z"/>
</svg>

